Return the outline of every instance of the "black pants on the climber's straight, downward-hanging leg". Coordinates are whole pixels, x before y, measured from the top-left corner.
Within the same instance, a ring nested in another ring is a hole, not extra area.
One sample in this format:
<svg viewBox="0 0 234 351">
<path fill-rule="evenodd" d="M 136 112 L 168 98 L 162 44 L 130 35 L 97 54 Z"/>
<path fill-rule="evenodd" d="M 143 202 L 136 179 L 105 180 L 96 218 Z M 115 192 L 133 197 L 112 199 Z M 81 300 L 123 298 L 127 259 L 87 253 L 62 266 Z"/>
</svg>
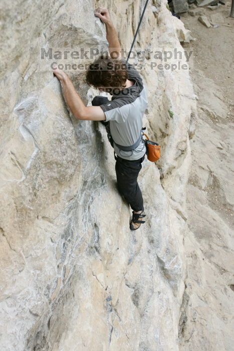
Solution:
<svg viewBox="0 0 234 351">
<path fill-rule="evenodd" d="M 137 183 L 137 177 L 141 170 L 141 163 L 145 156 L 137 160 L 127 160 L 119 156 L 116 157 L 115 171 L 117 186 L 121 195 L 129 203 L 132 210 L 143 211 L 144 202 L 141 190 Z"/>
</svg>

